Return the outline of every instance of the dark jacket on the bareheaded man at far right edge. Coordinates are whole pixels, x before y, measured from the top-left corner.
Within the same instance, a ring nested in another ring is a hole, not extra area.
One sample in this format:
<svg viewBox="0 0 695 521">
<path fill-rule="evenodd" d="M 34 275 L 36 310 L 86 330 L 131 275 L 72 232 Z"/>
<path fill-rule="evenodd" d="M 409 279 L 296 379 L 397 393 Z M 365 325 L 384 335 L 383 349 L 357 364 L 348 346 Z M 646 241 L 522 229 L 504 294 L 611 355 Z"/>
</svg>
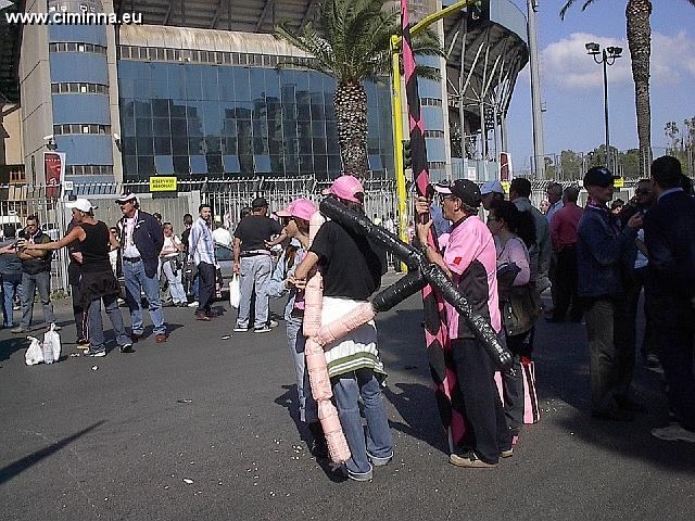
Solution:
<svg viewBox="0 0 695 521">
<path fill-rule="evenodd" d="M 668 331 L 695 329 L 695 199 L 664 195 L 644 216 L 649 254 L 646 303 L 654 326 Z"/>
</svg>

